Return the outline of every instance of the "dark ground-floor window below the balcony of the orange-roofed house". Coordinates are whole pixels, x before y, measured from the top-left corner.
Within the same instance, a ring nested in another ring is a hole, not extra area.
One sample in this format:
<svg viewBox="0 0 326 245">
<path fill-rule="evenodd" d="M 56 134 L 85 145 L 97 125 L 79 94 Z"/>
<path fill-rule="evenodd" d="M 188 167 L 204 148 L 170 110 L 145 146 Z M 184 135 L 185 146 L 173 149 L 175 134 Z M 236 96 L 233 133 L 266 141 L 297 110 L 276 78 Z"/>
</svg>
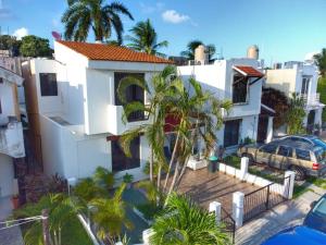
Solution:
<svg viewBox="0 0 326 245">
<path fill-rule="evenodd" d="M 112 152 L 112 170 L 124 171 L 140 167 L 139 159 L 139 137 L 135 138 L 130 144 L 131 158 L 128 158 L 121 148 L 118 140 L 111 142 Z"/>
</svg>

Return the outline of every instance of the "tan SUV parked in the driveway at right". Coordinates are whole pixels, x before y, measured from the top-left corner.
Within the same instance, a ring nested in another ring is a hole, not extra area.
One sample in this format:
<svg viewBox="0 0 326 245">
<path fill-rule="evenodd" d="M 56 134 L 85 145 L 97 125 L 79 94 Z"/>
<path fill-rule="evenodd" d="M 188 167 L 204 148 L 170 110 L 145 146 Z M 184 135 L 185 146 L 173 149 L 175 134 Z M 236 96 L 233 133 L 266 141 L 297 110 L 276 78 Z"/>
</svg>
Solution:
<svg viewBox="0 0 326 245">
<path fill-rule="evenodd" d="M 296 172 L 297 181 L 302 181 L 308 175 L 321 176 L 326 172 L 326 149 L 298 140 L 286 139 L 264 145 L 247 145 L 239 148 L 238 156 L 248 157 L 250 162 L 292 170 Z"/>
</svg>

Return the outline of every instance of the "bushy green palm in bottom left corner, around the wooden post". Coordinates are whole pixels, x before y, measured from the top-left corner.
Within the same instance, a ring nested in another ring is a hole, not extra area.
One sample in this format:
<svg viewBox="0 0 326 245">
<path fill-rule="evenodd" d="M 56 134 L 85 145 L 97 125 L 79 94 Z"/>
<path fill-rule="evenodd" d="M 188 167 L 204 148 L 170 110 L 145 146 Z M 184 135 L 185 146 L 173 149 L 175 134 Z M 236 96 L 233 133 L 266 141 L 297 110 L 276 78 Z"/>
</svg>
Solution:
<svg viewBox="0 0 326 245">
<path fill-rule="evenodd" d="M 28 204 L 14 212 L 18 219 L 40 216 L 41 211 L 49 211 L 50 242 L 53 245 L 62 245 L 62 231 L 64 225 L 75 219 L 82 207 L 77 206 L 72 198 L 64 194 L 49 194 L 42 196 L 36 204 Z M 41 220 L 36 220 L 28 225 L 24 236 L 26 245 L 42 244 Z"/>
</svg>

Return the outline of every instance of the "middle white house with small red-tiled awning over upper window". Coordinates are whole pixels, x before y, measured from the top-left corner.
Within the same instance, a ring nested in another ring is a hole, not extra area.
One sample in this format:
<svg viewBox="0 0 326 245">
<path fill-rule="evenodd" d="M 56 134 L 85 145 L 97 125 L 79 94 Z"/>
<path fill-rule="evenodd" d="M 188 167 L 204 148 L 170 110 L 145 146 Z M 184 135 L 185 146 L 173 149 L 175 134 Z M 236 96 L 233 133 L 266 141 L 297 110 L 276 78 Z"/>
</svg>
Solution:
<svg viewBox="0 0 326 245">
<path fill-rule="evenodd" d="M 196 65 L 178 66 L 181 77 L 195 77 L 203 89 L 214 93 L 221 100 L 228 99 L 234 103 L 229 114 L 224 115 L 223 127 L 216 133 L 217 144 L 231 149 L 246 138 L 256 140 L 264 81 L 262 62 L 243 58 L 211 63 L 204 52 L 197 51 L 192 62 Z M 272 124 L 268 126 L 271 131 Z"/>
</svg>

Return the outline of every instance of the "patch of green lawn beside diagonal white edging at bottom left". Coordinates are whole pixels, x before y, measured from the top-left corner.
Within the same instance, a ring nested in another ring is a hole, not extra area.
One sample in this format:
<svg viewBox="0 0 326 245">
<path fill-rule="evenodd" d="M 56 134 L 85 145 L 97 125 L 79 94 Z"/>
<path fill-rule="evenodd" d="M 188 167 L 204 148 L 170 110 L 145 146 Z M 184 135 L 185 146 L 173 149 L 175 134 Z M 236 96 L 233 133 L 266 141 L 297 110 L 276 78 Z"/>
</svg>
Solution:
<svg viewBox="0 0 326 245">
<path fill-rule="evenodd" d="M 23 237 L 26 226 L 22 226 Z M 67 221 L 62 229 L 62 245 L 92 245 L 78 218 Z"/>
</svg>

